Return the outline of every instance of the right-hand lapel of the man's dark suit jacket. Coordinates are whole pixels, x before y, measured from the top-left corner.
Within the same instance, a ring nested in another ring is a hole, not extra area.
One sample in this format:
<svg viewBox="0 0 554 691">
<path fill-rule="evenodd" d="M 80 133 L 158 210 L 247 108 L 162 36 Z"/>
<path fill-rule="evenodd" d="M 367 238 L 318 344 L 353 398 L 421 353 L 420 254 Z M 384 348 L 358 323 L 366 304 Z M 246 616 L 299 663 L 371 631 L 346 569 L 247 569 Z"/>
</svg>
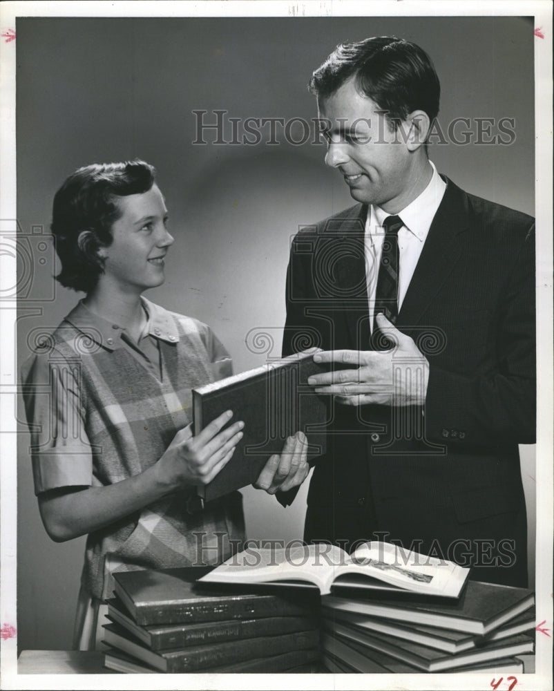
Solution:
<svg viewBox="0 0 554 691">
<path fill-rule="evenodd" d="M 437 209 L 399 312 L 397 327 L 414 326 L 446 281 L 461 254 L 457 237 L 468 227 L 464 192 L 446 178 L 446 191 Z"/>
</svg>

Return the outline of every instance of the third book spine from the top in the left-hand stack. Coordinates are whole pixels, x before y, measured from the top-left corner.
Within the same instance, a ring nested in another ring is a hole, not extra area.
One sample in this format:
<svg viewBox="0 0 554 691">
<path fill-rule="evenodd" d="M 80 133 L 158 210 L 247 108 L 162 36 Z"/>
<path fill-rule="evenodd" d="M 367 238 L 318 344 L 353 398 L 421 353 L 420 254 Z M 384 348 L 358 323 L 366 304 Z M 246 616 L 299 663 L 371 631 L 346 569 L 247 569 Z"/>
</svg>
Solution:
<svg viewBox="0 0 554 691">
<path fill-rule="evenodd" d="M 164 655 L 168 672 L 194 672 L 207 668 L 222 667 L 231 663 L 292 650 L 305 650 L 318 646 L 318 631 L 303 631 L 283 636 L 258 636 L 229 641 L 219 645 L 200 645 L 196 648 L 175 651 Z"/>
</svg>

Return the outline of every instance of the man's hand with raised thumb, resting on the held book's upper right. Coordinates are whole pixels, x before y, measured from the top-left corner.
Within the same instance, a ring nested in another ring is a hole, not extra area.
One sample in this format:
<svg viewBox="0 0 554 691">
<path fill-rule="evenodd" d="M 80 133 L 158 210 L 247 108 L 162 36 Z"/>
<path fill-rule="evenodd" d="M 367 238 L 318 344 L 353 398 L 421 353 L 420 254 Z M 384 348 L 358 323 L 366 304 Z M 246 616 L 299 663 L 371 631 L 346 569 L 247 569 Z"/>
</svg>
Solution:
<svg viewBox="0 0 554 691">
<path fill-rule="evenodd" d="M 376 316 L 391 350 L 327 350 L 314 355 L 316 362 L 337 362 L 352 369 L 309 377 L 316 393 L 332 394 L 347 406 L 422 406 L 429 379 L 429 363 L 413 339 L 395 328 L 383 315 Z"/>
</svg>

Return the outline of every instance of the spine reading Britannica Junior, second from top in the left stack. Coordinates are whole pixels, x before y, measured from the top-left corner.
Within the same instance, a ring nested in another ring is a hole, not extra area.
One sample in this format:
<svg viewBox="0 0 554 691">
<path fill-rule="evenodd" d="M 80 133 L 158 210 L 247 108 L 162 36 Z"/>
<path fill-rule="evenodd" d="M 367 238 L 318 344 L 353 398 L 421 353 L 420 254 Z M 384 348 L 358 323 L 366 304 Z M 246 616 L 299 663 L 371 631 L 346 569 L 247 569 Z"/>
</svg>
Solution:
<svg viewBox="0 0 554 691">
<path fill-rule="evenodd" d="M 170 650 L 204 643 L 238 641 L 240 638 L 254 638 L 254 636 L 277 636 L 316 629 L 316 627 L 315 618 L 301 616 L 207 622 L 204 626 L 194 625 L 180 631 L 151 632 L 150 647 L 151 650 Z"/>
</svg>

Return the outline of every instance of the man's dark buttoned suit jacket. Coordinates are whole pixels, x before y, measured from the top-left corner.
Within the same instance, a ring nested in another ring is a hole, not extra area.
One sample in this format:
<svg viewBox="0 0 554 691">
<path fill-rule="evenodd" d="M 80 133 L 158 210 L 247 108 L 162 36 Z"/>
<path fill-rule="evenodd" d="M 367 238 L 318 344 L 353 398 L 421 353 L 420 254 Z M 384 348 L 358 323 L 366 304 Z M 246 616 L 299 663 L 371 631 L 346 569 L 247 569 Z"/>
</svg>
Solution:
<svg viewBox="0 0 554 691">
<path fill-rule="evenodd" d="M 430 363 L 426 404 L 334 403 L 305 540 L 350 548 L 379 531 L 477 580 L 524 586 L 517 445 L 535 441 L 534 223 L 445 180 L 396 323 Z M 366 215 L 359 204 L 294 238 L 283 354 L 371 348 Z"/>
</svg>

